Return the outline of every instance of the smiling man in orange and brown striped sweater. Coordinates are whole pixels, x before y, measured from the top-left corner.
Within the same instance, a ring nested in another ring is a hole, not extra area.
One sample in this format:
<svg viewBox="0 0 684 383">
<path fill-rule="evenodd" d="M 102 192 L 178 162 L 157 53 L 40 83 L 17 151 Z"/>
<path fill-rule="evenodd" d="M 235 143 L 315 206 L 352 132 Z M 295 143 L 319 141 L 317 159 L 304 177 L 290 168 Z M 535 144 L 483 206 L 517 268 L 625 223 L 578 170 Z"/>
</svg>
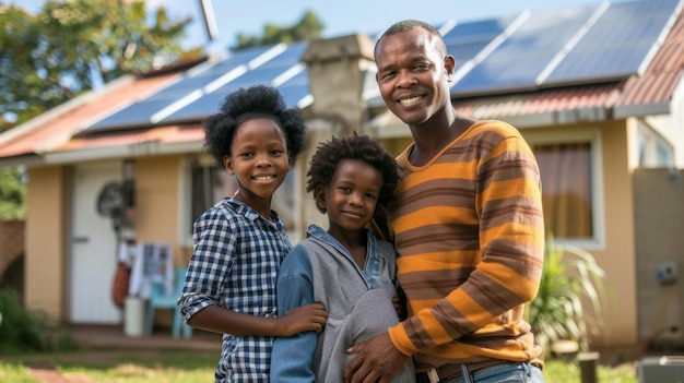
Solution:
<svg viewBox="0 0 684 383">
<path fill-rule="evenodd" d="M 375 48 L 377 82 L 414 144 L 388 212 L 409 318 L 349 352 L 346 382 L 389 382 L 413 357 L 418 382 L 543 382 L 523 306 L 539 289 L 539 168 L 520 133 L 451 105 L 456 60 L 418 21 Z"/>
</svg>

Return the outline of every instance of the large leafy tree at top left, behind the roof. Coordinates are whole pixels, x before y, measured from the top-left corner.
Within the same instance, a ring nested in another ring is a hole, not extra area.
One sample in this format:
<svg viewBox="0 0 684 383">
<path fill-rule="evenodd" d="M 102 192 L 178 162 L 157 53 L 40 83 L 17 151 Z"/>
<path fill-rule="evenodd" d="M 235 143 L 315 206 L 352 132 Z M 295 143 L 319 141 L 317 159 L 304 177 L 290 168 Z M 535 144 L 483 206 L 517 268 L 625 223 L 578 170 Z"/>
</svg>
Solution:
<svg viewBox="0 0 684 383">
<path fill-rule="evenodd" d="M 143 1 L 51 0 L 35 15 L 0 5 L 0 132 L 101 83 L 197 55 L 179 46 L 190 21 L 163 8 L 149 17 Z"/>
</svg>

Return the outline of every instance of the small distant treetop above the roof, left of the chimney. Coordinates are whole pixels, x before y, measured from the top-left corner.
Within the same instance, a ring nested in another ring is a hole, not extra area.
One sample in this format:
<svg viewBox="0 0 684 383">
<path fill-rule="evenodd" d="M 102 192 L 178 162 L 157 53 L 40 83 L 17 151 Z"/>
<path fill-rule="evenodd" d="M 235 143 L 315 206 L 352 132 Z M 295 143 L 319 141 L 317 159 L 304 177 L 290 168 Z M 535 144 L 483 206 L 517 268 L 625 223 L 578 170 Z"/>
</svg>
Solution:
<svg viewBox="0 0 684 383">
<path fill-rule="evenodd" d="M 302 20 L 294 25 L 279 26 L 272 23 L 266 24 L 261 37 L 238 33 L 237 45 L 231 49 L 240 50 L 278 43 L 310 41 L 320 38 L 325 27 L 326 25 L 318 19 L 316 13 L 307 10 Z"/>
</svg>

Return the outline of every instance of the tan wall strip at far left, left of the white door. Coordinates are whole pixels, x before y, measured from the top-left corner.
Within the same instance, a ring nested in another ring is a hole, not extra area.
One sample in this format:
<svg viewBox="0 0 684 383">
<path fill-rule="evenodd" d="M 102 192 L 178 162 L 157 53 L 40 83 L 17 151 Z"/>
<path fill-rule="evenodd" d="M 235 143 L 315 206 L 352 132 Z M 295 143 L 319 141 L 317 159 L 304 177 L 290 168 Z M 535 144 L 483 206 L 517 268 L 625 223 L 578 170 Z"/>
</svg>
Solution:
<svg viewBox="0 0 684 383">
<path fill-rule="evenodd" d="M 68 170 L 45 167 L 28 169 L 27 173 L 24 303 L 62 320 Z"/>
</svg>

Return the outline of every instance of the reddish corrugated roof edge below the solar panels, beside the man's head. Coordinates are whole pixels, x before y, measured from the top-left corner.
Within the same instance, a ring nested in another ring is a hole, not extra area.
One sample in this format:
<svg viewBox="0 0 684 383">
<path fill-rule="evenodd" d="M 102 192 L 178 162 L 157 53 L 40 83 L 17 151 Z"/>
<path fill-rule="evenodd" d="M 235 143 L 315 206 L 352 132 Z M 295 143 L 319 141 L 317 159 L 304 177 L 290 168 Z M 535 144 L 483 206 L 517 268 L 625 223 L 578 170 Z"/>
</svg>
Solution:
<svg viewBox="0 0 684 383">
<path fill-rule="evenodd" d="M 640 73 L 620 81 L 565 85 L 479 97 L 452 97 L 455 108 L 476 119 L 503 119 L 516 127 L 551 125 L 670 113 L 672 96 L 684 73 L 684 14 L 663 36 L 652 59 Z M 387 115 L 387 116 L 385 116 Z M 403 125 L 389 111 L 372 125 L 379 136 L 391 136 Z"/>
</svg>

